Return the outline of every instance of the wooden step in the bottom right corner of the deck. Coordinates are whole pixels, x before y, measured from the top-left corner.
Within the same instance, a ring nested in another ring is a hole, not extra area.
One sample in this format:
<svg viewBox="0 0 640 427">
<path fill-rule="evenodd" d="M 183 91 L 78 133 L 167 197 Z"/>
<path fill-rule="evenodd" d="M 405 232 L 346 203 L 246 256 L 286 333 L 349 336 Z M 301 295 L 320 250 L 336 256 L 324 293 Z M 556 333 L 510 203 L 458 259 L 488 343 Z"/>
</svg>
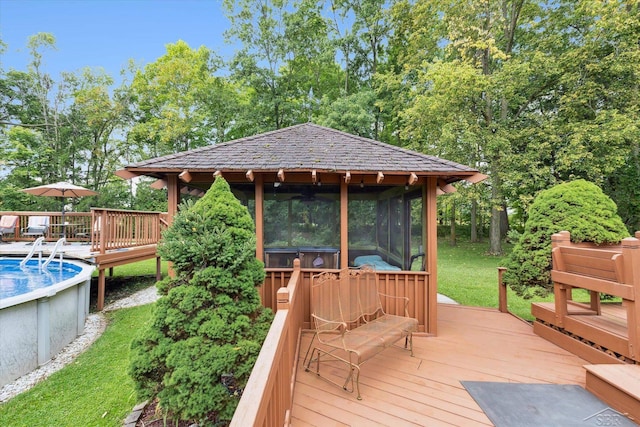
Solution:
<svg viewBox="0 0 640 427">
<path fill-rule="evenodd" d="M 585 365 L 586 389 L 616 411 L 640 421 L 640 365 Z"/>
</svg>

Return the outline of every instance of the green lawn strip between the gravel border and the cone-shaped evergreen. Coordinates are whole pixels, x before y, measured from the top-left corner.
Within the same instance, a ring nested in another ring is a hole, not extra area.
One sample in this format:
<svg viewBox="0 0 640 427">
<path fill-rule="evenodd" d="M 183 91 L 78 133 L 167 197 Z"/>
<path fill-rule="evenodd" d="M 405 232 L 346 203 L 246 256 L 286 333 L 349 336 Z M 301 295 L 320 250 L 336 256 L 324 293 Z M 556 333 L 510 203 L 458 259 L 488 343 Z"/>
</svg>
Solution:
<svg viewBox="0 0 640 427">
<path fill-rule="evenodd" d="M 0 405 L 1 426 L 121 426 L 135 405 L 127 374 L 132 337 L 151 305 L 107 314 L 105 333 L 74 363 Z"/>
</svg>

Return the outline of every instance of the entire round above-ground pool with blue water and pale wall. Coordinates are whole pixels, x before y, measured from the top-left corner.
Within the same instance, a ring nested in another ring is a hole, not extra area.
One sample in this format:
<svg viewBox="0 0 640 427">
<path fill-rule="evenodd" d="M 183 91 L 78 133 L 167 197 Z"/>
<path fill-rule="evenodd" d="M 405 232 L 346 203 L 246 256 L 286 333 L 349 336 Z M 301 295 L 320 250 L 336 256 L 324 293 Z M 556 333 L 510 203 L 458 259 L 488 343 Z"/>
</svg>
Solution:
<svg viewBox="0 0 640 427">
<path fill-rule="evenodd" d="M 0 387 L 47 363 L 84 330 L 94 266 L 0 258 Z"/>
</svg>

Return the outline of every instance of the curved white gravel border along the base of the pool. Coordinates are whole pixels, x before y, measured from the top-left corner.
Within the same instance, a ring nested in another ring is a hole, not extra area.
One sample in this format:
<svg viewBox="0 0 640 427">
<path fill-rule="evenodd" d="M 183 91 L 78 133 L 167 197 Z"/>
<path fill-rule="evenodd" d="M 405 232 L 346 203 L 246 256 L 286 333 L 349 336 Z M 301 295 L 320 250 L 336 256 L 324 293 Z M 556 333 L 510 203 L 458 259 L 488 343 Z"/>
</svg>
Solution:
<svg viewBox="0 0 640 427">
<path fill-rule="evenodd" d="M 78 336 L 78 338 L 63 348 L 60 353 L 56 354 L 44 365 L 39 366 L 28 374 L 0 388 L 0 403 L 4 403 L 18 394 L 29 390 L 40 381 L 47 379 L 54 372 L 59 371 L 73 362 L 79 354 L 89 348 L 104 332 L 107 327 L 104 312 L 149 304 L 157 299 L 158 293 L 154 285 L 107 305 L 102 312 L 90 314 L 84 323 L 82 335 Z"/>
</svg>

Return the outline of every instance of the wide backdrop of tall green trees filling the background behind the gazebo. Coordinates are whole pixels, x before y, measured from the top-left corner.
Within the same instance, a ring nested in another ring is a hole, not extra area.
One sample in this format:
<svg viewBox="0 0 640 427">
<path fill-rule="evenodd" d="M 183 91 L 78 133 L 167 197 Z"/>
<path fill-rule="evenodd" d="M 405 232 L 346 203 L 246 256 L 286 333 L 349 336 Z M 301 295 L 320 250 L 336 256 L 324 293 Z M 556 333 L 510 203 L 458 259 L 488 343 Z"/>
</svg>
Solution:
<svg viewBox="0 0 640 427">
<path fill-rule="evenodd" d="M 492 253 L 539 191 L 579 178 L 640 228 L 637 1 L 224 7 L 232 58 L 176 41 L 117 88 L 97 70 L 48 75 L 55 39 L 35 35 L 26 70 L 0 69 L 0 187 L 66 179 L 118 194 L 105 187 L 123 164 L 313 121 L 489 175 L 456 210 L 490 219 Z M 113 203 L 155 204 L 131 190 Z"/>
</svg>

